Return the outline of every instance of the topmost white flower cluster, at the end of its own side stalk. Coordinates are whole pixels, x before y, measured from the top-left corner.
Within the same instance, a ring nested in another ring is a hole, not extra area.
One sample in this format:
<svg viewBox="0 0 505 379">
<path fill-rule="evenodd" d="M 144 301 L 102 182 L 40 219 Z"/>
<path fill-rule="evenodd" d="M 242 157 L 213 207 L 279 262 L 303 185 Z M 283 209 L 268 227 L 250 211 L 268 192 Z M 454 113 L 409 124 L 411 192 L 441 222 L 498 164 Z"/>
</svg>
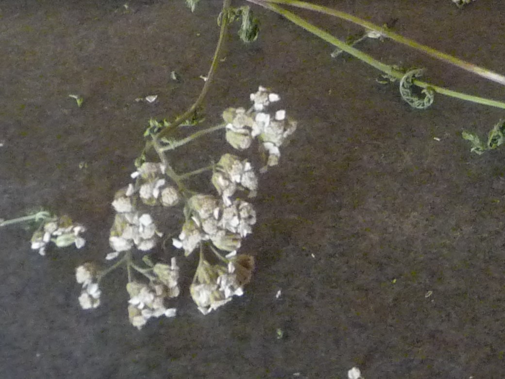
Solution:
<svg viewBox="0 0 505 379">
<path fill-rule="evenodd" d="M 223 112 L 223 119 L 227 122 L 226 140 L 234 149 L 245 150 L 258 136 L 263 149 L 269 154 L 267 166 L 275 166 L 279 163 L 279 148 L 296 130 L 296 122 L 286 119 L 285 110 L 273 115 L 264 112 L 270 103 L 280 100 L 278 94 L 269 92 L 265 87 L 260 86 L 258 92 L 251 93 L 250 100 L 254 102 L 254 111 L 228 108 Z"/>
</svg>

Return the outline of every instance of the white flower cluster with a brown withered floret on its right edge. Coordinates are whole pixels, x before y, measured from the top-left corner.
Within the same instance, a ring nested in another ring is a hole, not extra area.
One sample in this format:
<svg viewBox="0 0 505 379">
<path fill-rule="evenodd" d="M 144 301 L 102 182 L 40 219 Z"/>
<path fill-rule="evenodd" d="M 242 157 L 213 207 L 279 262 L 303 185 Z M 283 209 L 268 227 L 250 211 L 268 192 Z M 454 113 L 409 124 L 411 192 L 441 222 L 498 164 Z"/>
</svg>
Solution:
<svg viewBox="0 0 505 379">
<path fill-rule="evenodd" d="M 231 301 L 233 296 L 242 296 L 243 286 L 249 282 L 252 270 L 254 258 L 249 255 L 233 257 L 227 269 L 204 261 L 197 272 L 197 281 L 190 287 L 199 311 L 206 315 Z"/>
</svg>

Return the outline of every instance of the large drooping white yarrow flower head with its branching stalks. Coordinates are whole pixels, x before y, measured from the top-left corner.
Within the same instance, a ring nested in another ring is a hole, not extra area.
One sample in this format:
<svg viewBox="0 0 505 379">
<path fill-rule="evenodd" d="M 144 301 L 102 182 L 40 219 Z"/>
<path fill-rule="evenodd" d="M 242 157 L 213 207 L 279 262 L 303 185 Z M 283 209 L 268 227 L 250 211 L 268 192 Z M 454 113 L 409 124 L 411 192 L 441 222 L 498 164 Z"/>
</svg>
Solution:
<svg viewBox="0 0 505 379">
<path fill-rule="evenodd" d="M 251 94 L 252 106 L 248 110 L 228 108 L 223 112 L 223 124 L 203 131 L 223 130 L 228 143 L 240 152 L 257 138 L 261 151 L 268 153 L 261 170 L 266 172 L 268 167 L 279 163 L 280 147 L 296 129 L 296 123 L 286 118 L 284 110 L 268 112 L 270 104 L 279 100 L 278 94 L 260 86 Z M 151 132 L 153 125 L 161 123 L 151 120 L 146 135 L 151 138 L 160 162 L 138 162 L 138 169 L 131 174 L 134 181 L 120 189 L 112 202 L 116 211 L 109 237 L 112 252 L 105 258 L 117 262 L 101 272 L 89 262 L 76 270 L 77 282 L 82 285 L 79 303 L 83 309 L 92 309 L 100 304 L 99 280 L 116 267 L 126 266 L 128 315 L 138 329 L 152 317 L 175 316 L 176 309 L 166 307 L 165 300 L 180 293 L 175 256 L 171 265 L 154 264 L 149 256 L 144 256 L 144 266 L 135 262 L 139 252 L 153 250 L 164 235 L 148 207 L 161 207 L 164 215 L 182 211 L 185 221 L 177 238 L 172 239 L 172 246 L 182 250 L 185 257 L 199 251 L 190 294 L 201 313 L 208 314 L 234 296 L 242 296 L 255 266 L 254 257 L 237 253 L 256 223 L 254 207 L 243 200 L 243 196 L 254 198 L 258 191 L 258 177 L 252 164 L 246 158 L 225 153 L 216 164 L 177 174 L 167 152 L 205 133 L 200 130 L 183 140 L 159 139 Z M 208 171 L 212 172 L 214 194 L 194 193 L 186 187 L 186 179 Z M 216 263 L 209 261 L 209 253 Z"/>
</svg>

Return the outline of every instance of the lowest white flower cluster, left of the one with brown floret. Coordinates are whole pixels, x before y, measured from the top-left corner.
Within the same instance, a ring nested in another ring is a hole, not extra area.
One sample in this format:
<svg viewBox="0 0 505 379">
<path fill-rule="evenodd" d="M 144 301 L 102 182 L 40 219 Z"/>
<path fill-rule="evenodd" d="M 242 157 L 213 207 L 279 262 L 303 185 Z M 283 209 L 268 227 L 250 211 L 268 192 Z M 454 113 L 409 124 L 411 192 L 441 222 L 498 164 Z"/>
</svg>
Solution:
<svg viewBox="0 0 505 379">
<path fill-rule="evenodd" d="M 137 281 L 126 285 L 130 295 L 128 316 L 131 324 L 139 330 L 151 317 L 174 317 L 177 312 L 176 308 L 167 308 L 164 304 L 165 298 L 179 295 L 179 267 L 175 258 L 172 258 L 171 266 L 157 263 L 154 273 L 157 278 L 148 285 Z"/>
</svg>

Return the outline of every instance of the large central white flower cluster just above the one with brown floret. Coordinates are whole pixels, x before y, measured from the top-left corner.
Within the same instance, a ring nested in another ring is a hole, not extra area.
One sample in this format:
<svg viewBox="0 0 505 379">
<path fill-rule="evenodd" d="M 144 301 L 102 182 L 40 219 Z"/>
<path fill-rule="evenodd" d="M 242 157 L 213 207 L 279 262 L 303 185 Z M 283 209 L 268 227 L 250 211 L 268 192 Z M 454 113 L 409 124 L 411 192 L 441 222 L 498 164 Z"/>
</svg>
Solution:
<svg viewBox="0 0 505 379">
<path fill-rule="evenodd" d="M 190 217 L 182 226 L 178 239 L 173 245 L 191 254 L 200 242 L 211 240 L 218 249 L 236 252 L 241 240 L 252 232 L 256 223 L 256 211 L 252 205 L 242 201 L 230 201 L 229 206 L 212 195 L 197 194 L 186 204 L 186 214 Z"/>
</svg>

